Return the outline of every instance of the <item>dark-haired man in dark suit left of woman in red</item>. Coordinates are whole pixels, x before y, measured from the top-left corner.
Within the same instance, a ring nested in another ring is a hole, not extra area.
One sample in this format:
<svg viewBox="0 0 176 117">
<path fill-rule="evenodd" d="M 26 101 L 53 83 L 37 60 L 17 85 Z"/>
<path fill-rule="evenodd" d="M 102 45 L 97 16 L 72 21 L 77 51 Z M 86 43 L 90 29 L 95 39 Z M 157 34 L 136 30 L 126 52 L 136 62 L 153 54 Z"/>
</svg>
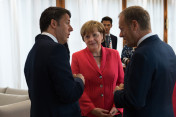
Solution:
<svg viewBox="0 0 176 117">
<path fill-rule="evenodd" d="M 81 117 L 78 99 L 84 77 L 73 78 L 68 48 L 71 14 L 59 7 L 47 8 L 40 17 L 41 34 L 36 36 L 25 63 L 31 100 L 31 117 Z"/>
</svg>

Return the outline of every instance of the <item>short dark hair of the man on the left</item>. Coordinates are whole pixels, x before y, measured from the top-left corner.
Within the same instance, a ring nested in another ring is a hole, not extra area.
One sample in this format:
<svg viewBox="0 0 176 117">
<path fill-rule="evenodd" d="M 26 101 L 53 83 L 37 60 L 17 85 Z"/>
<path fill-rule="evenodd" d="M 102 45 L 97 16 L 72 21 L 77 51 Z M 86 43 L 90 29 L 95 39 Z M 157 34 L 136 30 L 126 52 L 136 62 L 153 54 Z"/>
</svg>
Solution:
<svg viewBox="0 0 176 117">
<path fill-rule="evenodd" d="M 67 9 L 61 7 L 49 7 L 45 9 L 40 17 L 40 31 L 46 31 L 52 19 L 56 20 L 59 24 L 60 19 L 65 14 L 68 14 L 71 18 L 71 13 Z"/>
</svg>

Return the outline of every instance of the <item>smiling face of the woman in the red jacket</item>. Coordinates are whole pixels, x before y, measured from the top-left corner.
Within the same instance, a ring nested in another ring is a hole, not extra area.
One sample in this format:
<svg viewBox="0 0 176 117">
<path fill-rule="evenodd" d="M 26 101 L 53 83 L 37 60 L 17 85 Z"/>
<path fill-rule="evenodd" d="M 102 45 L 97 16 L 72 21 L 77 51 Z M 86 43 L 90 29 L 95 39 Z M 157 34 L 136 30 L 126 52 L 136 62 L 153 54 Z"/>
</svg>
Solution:
<svg viewBox="0 0 176 117">
<path fill-rule="evenodd" d="M 101 42 L 103 40 L 103 34 L 100 33 L 97 28 L 92 33 L 84 35 L 84 42 L 91 52 L 98 52 L 101 50 Z"/>
</svg>

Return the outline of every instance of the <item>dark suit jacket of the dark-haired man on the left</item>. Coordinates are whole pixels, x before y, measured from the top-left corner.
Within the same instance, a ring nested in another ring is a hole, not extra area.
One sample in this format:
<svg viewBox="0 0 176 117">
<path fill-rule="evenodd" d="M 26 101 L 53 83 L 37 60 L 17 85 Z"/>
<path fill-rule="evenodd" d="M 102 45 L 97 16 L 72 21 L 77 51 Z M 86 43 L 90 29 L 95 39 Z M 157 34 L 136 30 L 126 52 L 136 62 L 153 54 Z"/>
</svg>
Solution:
<svg viewBox="0 0 176 117">
<path fill-rule="evenodd" d="M 84 85 L 72 76 L 66 48 L 38 35 L 25 63 L 31 117 L 80 117 Z"/>
</svg>

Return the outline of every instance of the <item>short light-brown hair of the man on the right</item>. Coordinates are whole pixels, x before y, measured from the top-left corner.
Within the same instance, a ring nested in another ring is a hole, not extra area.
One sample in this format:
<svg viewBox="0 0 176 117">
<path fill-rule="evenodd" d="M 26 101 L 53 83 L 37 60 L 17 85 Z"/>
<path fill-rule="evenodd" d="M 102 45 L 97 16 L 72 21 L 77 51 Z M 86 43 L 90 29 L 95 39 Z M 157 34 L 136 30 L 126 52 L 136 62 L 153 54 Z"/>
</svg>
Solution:
<svg viewBox="0 0 176 117">
<path fill-rule="evenodd" d="M 136 20 L 141 30 L 151 30 L 150 15 L 140 6 L 131 6 L 124 9 L 119 16 L 124 15 L 125 22 L 130 25 L 132 20 Z"/>
</svg>

